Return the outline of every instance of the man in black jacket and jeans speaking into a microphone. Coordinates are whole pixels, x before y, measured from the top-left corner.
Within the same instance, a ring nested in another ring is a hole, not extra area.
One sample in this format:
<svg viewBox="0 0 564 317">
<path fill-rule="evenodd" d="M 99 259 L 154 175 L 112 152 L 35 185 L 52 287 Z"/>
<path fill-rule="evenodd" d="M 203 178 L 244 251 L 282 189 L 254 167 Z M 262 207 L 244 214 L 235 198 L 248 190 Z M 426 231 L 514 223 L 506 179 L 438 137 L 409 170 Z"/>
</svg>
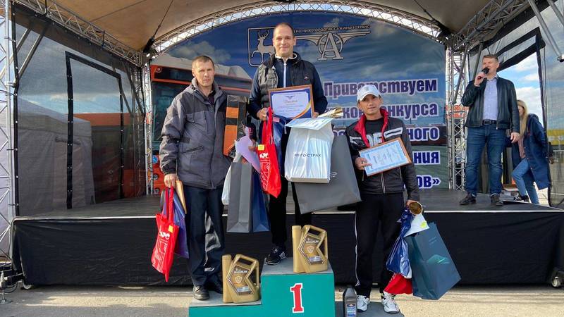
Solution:
<svg viewBox="0 0 564 317">
<path fill-rule="evenodd" d="M 462 104 L 470 108 L 466 119 L 466 192 L 461 205 L 475 204 L 478 192 L 478 166 L 487 144 L 489 165 L 489 192 L 491 206 L 503 206 L 501 193 L 501 154 L 505 149 L 505 132 L 511 130 L 511 142 L 519 137 L 519 111 L 515 86 L 498 76 L 496 55 L 485 55 L 482 68 L 468 84 Z"/>
</svg>

